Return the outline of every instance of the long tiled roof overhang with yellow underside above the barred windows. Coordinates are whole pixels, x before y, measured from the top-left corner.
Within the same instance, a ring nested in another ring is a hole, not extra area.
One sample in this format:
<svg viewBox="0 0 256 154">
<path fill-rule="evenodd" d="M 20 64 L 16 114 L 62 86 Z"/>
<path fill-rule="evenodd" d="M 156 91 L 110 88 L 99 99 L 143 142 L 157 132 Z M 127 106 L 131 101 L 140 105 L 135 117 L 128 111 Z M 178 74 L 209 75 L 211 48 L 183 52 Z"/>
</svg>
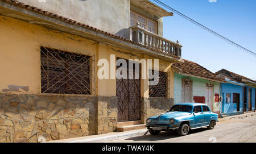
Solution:
<svg viewBox="0 0 256 154">
<path fill-rule="evenodd" d="M 158 59 L 174 62 L 182 61 L 180 57 L 169 56 L 164 53 L 156 52 L 154 49 L 145 45 L 131 41 L 121 36 L 110 34 L 87 24 L 65 18 L 36 7 L 13 0 L 0 0 L 0 15 L 24 20 L 31 24 L 51 28 L 57 31 L 68 32 L 69 34 L 81 36 L 86 39 L 97 41 L 98 43 L 112 45 L 127 51 L 142 53 Z"/>
</svg>

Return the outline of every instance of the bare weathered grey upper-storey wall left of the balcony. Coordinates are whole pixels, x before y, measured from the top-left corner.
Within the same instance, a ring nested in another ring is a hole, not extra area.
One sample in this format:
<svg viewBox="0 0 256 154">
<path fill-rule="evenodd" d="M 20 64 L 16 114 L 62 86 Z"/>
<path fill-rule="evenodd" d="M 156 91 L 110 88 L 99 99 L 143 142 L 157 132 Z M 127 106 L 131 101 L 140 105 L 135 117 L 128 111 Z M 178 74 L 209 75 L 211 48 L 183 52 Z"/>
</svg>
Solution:
<svg viewBox="0 0 256 154">
<path fill-rule="evenodd" d="M 129 35 L 126 29 L 129 27 L 130 0 L 19 1 L 113 34 Z"/>
</svg>

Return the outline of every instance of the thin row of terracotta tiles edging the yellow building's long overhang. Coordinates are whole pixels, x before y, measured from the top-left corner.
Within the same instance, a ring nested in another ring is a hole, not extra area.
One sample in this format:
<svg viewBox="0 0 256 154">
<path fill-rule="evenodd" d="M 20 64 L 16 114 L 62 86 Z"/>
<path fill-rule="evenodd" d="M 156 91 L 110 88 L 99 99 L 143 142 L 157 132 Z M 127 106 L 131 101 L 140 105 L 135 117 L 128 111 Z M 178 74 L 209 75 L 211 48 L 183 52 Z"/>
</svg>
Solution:
<svg viewBox="0 0 256 154">
<path fill-rule="evenodd" d="M 34 7 L 34 6 L 26 5 L 26 4 L 24 4 L 22 2 L 19 2 L 19 1 L 16 1 L 16 0 L 0 0 L 0 1 L 5 1 L 6 3 L 9 3 L 11 5 L 16 5 L 16 6 L 23 7 L 24 9 L 33 10 L 36 13 L 40 13 L 40 14 L 44 14 L 44 15 L 47 15 L 47 16 L 51 16 L 52 18 L 60 19 L 60 20 L 63 20 L 64 22 L 67 22 L 67 23 L 70 23 L 70 24 L 75 24 L 76 26 L 89 28 L 90 30 L 93 30 L 93 31 L 96 31 L 96 32 L 100 32 L 101 34 L 108 35 L 108 36 L 111 36 L 113 38 L 117 38 L 117 39 L 120 39 L 120 40 L 123 40 L 123 41 L 127 41 L 127 42 L 130 42 L 130 43 L 139 45 L 141 47 L 144 47 L 144 48 L 147 48 L 147 49 L 151 49 L 152 51 L 156 51 L 156 49 L 152 49 L 150 47 L 147 47 L 146 45 L 139 44 L 139 43 L 137 43 L 135 41 L 131 41 L 129 39 L 123 38 L 123 37 L 115 35 L 115 34 L 110 34 L 109 32 L 100 30 L 98 28 L 94 28 L 92 26 L 89 26 L 89 25 L 84 24 L 84 23 L 77 22 L 77 21 L 72 20 L 72 19 L 65 18 L 64 16 L 57 15 L 57 14 L 54 14 L 54 13 L 50 13 L 50 12 L 48 12 L 46 10 L 38 9 L 37 7 Z M 158 52 L 158 51 L 156 51 L 156 52 Z M 165 53 L 163 53 L 163 54 L 165 54 Z M 170 56 L 170 55 L 168 55 L 168 56 Z M 175 56 L 175 55 L 172 55 L 172 57 L 174 57 L 176 59 L 180 59 L 180 57 Z"/>
</svg>

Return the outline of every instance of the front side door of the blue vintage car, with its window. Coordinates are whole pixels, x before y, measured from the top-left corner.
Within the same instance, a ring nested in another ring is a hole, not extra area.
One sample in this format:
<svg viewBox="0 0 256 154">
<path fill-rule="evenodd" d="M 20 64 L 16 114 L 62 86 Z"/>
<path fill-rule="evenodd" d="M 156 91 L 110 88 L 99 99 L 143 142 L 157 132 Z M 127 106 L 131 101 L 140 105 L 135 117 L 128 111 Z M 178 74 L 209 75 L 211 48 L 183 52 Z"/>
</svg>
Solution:
<svg viewBox="0 0 256 154">
<path fill-rule="evenodd" d="M 193 128 L 204 126 L 204 114 L 201 106 L 194 107 L 193 116 L 194 116 Z"/>
</svg>

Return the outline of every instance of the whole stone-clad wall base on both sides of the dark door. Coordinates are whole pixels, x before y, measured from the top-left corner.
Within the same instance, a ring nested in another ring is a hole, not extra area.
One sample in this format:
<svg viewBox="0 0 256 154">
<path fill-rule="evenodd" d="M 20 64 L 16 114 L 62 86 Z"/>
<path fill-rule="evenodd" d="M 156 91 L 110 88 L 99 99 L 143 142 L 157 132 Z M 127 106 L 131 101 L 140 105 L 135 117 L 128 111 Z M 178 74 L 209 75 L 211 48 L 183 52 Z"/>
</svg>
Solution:
<svg viewBox="0 0 256 154">
<path fill-rule="evenodd" d="M 169 98 L 141 98 L 141 119 L 170 110 Z M 105 134 L 117 127 L 117 97 L 0 93 L 0 142 Z"/>
</svg>

